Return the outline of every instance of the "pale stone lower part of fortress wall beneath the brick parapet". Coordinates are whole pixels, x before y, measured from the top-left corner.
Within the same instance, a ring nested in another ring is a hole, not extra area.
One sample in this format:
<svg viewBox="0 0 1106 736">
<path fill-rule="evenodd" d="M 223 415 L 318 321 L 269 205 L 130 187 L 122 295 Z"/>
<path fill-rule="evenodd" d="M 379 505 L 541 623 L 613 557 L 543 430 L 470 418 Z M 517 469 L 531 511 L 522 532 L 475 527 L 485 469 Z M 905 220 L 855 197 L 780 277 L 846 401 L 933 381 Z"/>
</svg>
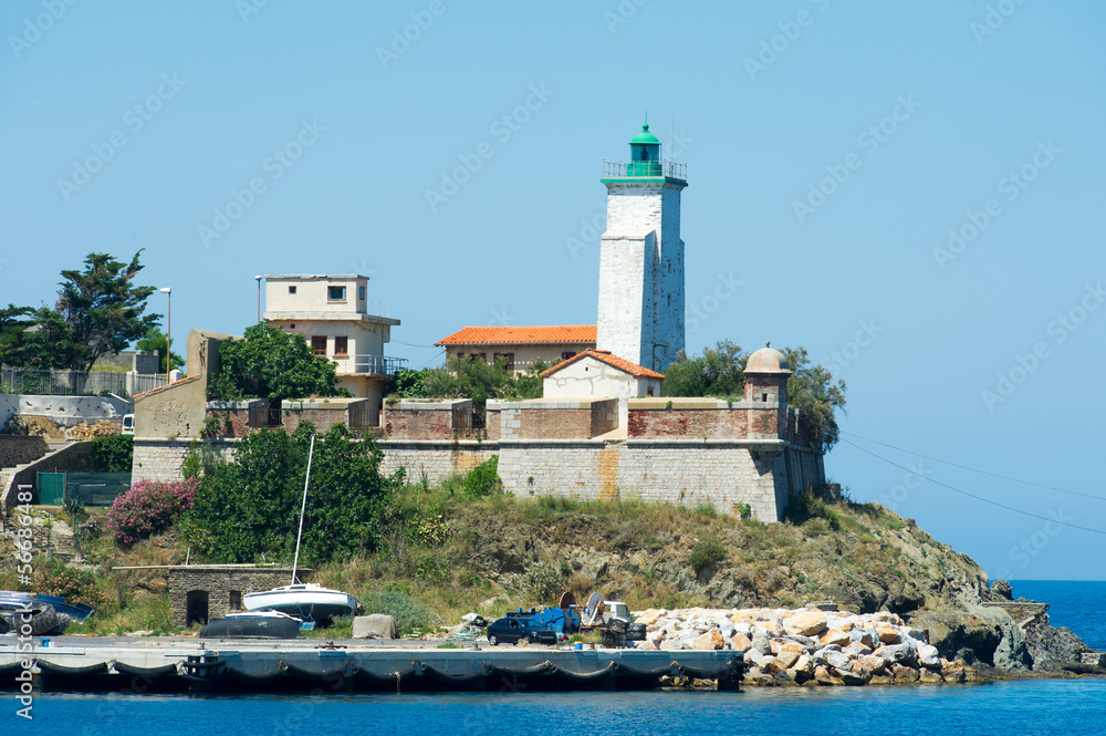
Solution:
<svg viewBox="0 0 1106 736">
<path fill-rule="evenodd" d="M 228 453 L 233 440 L 208 440 Z M 179 480 L 188 440 L 135 439 L 133 479 Z M 616 497 L 710 504 L 721 514 L 748 505 L 776 521 L 791 494 L 825 484 L 822 456 L 776 439 L 396 439 L 377 440 L 386 475 L 439 483 L 499 456 L 505 490 L 517 496 Z"/>
</svg>

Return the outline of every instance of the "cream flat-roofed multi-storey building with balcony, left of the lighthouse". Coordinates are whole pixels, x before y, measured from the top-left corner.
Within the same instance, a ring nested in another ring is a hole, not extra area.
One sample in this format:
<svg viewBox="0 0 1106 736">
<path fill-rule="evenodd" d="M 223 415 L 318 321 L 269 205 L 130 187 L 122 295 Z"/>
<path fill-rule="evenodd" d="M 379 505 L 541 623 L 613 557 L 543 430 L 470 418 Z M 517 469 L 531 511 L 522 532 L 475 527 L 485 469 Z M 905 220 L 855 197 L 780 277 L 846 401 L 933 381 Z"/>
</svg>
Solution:
<svg viewBox="0 0 1106 736">
<path fill-rule="evenodd" d="M 316 355 L 337 364 L 342 386 L 354 396 L 375 400 L 375 412 L 385 384 L 407 361 L 384 354 L 399 320 L 371 309 L 368 297 L 367 276 L 270 274 L 264 320 L 306 338 Z"/>
</svg>

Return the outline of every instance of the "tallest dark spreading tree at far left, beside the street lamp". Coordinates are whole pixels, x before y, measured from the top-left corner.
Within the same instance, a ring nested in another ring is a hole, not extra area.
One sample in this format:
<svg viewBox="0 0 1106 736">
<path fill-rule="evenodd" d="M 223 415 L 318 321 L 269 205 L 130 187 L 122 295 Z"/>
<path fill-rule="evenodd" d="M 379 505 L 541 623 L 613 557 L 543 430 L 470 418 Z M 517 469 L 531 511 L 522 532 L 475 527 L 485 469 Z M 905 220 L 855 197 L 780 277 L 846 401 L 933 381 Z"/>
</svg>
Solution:
<svg viewBox="0 0 1106 736">
<path fill-rule="evenodd" d="M 126 263 L 108 253 L 88 253 L 83 271 L 62 271 L 58 311 L 69 323 L 75 346 L 69 367 L 90 370 L 97 357 L 125 350 L 161 319 L 143 315 L 155 288 L 133 283 L 144 268 L 140 255 L 142 250 Z"/>
</svg>

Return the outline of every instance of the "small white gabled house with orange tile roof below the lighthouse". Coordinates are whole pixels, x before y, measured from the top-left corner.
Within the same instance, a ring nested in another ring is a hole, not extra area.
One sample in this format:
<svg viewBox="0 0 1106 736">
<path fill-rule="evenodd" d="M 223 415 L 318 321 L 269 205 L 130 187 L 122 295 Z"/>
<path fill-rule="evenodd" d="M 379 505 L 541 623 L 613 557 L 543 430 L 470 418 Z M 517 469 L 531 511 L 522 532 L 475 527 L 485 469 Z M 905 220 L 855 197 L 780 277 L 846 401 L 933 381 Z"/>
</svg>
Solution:
<svg viewBox="0 0 1106 736">
<path fill-rule="evenodd" d="M 617 398 L 618 427 L 626 429 L 629 400 L 660 396 L 665 376 L 606 350 L 585 350 L 542 373 L 545 398 Z"/>
</svg>

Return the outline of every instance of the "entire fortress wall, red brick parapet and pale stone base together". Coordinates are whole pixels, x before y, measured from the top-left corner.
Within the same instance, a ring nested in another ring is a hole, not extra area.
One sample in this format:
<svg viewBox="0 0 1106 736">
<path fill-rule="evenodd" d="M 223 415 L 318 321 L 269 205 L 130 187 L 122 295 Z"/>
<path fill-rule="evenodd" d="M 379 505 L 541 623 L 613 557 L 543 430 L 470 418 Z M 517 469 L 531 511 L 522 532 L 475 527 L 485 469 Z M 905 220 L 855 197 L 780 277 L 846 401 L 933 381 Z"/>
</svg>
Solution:
<svg viewBox="0 0 1106 736">
<path fill-rule="evenodd" d="M 498 455 L 517 496 L 633 497 L 727 514 L 748 505 L 762 521 L 781 518 L 790 495 L 826 484 L 821 452 L 775 401 L 630 400 L 626 436 L 611 437 L 616 403 L 489 401 L 487 438 L 473 438 L 469 400 L 386 403 L 382 471 L 436 483 Z M 136 437 L 134 480 L 178 479 L 191 442 Z M 234 439 L 200 442 L 229 457 Z"/>
</svg>

